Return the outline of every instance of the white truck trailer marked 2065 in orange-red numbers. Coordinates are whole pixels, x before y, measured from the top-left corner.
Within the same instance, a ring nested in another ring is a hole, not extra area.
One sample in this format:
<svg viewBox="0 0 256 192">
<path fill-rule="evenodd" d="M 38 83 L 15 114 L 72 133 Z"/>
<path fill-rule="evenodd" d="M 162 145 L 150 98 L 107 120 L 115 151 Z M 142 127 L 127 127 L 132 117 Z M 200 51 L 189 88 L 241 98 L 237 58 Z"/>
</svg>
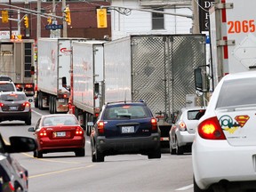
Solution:
<svg viewBox="0 0 256 192">
<path fill-rule="evenodd" d="M 210 9 L 212 74 L 222 76 L 256 68 L 256 26 L 253 0 L 215 0 Z"/>
</svg>

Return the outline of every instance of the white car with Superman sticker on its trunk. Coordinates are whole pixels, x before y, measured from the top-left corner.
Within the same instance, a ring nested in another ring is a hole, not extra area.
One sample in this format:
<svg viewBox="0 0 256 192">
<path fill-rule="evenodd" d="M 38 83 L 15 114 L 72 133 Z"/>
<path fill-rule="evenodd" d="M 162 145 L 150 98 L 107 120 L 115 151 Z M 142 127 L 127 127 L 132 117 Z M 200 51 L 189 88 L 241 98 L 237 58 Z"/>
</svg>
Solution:
<svg viewBox="0 0 256 192">
<path fill-rule="evenodd" d="M 256 191 L 256 71 L 220 80 L 198 121 L 192 163 L 195 192 Z"/>
</svg>

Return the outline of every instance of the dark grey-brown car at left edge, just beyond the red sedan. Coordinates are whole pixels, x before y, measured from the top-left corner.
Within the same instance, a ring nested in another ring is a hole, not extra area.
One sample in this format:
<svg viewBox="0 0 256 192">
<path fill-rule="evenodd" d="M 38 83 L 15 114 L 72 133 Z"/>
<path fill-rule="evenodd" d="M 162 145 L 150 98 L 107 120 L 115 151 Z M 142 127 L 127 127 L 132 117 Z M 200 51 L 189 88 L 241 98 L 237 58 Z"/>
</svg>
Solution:
<svg viewBox="0 0 256 192">
<path fill-rule="evenodd" d="M 31 124 L 31 105 L 24 92 L 0 93 L 0 122 L 20 120 Z"/>
</svg>

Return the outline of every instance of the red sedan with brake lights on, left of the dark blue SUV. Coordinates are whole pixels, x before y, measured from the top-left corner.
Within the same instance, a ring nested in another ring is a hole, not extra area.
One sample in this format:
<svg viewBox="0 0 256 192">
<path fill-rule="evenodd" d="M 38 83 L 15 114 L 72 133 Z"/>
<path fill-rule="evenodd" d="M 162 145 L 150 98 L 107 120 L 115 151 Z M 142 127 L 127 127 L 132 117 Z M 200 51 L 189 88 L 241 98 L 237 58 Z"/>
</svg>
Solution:
<svg viewBox="0 0 256 192">
<path fill-rule="evenodd" d="M 74 151 L 76 156 L 85 156 L 84 129 L 72 114 L 45 115 L 37 121 L 36 127 L 28 128 L 34 132 L 37 148 L 34 156 L 43 154 Z"/>
</svg>

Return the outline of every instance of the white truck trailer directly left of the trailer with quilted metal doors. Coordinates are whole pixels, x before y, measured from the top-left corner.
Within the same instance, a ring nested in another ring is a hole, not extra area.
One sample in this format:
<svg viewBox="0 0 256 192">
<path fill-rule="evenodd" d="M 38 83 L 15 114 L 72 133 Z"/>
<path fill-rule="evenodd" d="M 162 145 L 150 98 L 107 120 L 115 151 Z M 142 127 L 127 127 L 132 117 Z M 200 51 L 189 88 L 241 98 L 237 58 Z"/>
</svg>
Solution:
<svg viewBox="0 0 256 192">
<path fill-rule="evenodd" d="M 75 42 L 72 46 L 70 113 L 85 126 L 87 135 L 92 131 L 87 122 L 97 118 L 103 104 L 105 42 L 88 40 Z"/>
</svg>

